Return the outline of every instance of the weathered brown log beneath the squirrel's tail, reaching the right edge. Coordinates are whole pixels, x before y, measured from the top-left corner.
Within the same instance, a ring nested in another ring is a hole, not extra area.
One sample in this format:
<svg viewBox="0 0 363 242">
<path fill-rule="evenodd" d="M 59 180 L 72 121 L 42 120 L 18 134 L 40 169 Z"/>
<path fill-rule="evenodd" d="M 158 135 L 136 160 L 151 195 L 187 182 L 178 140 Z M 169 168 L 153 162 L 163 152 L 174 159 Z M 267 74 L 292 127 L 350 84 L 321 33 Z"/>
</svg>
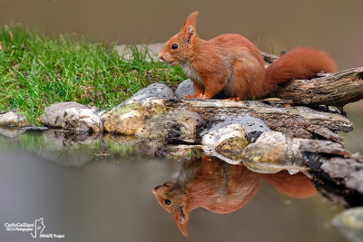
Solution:
<svg viewBox="0 0 363 242">
<path fill-rule="evenodd" d="M 310 80 L 289 82 L 271 92 L 270 96 L 299 105 L 336 107 L 363 99 L 363 67 L 321 75 Z"/>
</svg>

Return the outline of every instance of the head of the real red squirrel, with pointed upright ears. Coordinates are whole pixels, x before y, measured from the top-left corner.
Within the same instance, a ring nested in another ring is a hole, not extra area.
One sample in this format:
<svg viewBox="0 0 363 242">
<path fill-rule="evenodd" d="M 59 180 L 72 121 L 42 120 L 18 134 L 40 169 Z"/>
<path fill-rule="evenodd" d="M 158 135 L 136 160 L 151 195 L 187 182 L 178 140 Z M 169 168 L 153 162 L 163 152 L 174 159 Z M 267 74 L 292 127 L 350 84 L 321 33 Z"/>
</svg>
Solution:
<svg viewBox="0 0 363 242">
<path fill-rule="evenodd" d="M 198 35 L 195 22 L 198 11 L 191 13 L 182 24 L 181 32 L 172 38 L 162 47 L 159 58 L 172 65 L 185 63 L 190 60 L 195 47 Z"/>
</svg>

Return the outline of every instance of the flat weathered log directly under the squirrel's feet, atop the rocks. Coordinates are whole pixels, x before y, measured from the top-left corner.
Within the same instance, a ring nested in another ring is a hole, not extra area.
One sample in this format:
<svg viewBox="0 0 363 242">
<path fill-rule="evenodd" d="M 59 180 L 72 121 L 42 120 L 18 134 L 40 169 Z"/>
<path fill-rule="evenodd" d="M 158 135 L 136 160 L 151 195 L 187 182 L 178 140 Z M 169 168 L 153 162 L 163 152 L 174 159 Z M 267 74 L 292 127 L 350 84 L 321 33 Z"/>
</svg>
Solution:
<svg viewBox="0 0 363 242">
<path fill-rule="evenodd" d="M 340 140 L 331 131 L 352 131 L 353 123 L 338 113 L 315 111 L 308 107 L 273 107 L 260 101 L 231 100 L 175 100 L 165 101 L 169 109 L 196 111 L 211 121 L 223 121 L 227 116 L 250 115 L 260 118 L 272 131 L 281 131 L 297 138 L 320 135 L 329 140 Z M 319 127 L 319 128 L 318 128 Z M 325 132 L 323 132 L 325 131 Z"/>
</svg>

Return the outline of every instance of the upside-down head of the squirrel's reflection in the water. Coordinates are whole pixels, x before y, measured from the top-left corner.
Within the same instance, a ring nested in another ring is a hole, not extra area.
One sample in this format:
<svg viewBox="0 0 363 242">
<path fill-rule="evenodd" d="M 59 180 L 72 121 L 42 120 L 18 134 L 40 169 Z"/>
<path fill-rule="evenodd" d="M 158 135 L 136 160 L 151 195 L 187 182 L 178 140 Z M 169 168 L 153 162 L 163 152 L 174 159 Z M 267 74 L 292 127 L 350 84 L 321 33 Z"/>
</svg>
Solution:
<svg viewBox="0 0 363 242">
<path fill-rule="evenodd" d="M 188 198 L 172 182 L 165 182 L 152 189 L 152 193 L 162 208 L 172 214 L 172 218 L 184 236 L 188 236 L 187 223 L 190 214 Z"/>
</svg>

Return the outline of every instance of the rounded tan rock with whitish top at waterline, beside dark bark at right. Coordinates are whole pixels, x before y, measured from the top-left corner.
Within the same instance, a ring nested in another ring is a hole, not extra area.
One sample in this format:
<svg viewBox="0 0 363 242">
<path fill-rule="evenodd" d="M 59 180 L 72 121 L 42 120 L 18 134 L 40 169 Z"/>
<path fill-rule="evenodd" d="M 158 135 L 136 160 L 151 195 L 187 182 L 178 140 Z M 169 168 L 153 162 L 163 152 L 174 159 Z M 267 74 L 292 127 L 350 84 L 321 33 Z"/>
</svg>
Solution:
<svg viewBox="0 0 363 242">
<path fill-rule="evenodd" d="M 290 174 L 306 170 L 303 167 L 299 141 L 278 131 L 266 131 L 241 154 L 243 164 L 259 173 L 276 173 L 286 169 Z"/>
</svg>

